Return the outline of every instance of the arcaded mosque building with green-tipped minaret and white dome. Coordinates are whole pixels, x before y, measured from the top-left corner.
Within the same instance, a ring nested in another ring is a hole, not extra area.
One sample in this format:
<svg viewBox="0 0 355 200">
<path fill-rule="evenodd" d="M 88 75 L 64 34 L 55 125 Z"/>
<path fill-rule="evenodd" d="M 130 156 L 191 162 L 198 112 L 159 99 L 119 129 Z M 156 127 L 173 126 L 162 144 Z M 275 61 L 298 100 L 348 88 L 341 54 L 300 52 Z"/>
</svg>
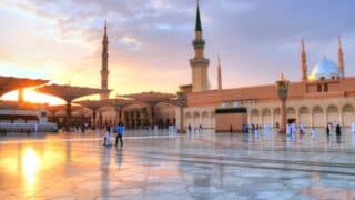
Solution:
<svg viewBox="0 0 355 200">
<path fill-rule="evenodd" d="M 217 89 L 209 88 L 209 59 L 204 58 L 200 8 L 196 10 L 194 58 L 190 60 L 192 83 L 180 87 L 185 94 L 183 111 L 176 109 L 178 127 L 199 127 L 230 130 L 242 124 L 281 123 L 281 101 L 276 84 L 222 89 L 222 67 L 219 61 Z M 322 128 L 327 123 L 348 127 L 355 121 L 355 77 L 346 77 L 344 53 L 338 38 L 337 63 L 324 58 L 308 69 L 306 50 L 302 40 L 302 79 L 290 83 L 285 116 L 288 122 L 304 127 Z M 183 114 L 183 116 L 181 116 Z"/>
</svg>

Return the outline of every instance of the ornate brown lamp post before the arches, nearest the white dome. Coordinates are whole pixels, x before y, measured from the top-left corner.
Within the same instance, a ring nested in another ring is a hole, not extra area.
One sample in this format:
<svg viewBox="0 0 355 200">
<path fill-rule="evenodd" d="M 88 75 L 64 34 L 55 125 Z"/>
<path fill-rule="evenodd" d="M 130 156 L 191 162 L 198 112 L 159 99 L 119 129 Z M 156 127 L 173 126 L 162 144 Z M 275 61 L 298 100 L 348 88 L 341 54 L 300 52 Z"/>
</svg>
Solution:
<svg viewBox="0 0 355 200">
<path fill-rule="evenodd" d="M 281 101 L 281 128 L 280 133 L 286 133 L 286 99 L 288 94 L 290 81 L 281 73 L 280 79 L 276 81 L 277 96 Z"/>
</svg>

